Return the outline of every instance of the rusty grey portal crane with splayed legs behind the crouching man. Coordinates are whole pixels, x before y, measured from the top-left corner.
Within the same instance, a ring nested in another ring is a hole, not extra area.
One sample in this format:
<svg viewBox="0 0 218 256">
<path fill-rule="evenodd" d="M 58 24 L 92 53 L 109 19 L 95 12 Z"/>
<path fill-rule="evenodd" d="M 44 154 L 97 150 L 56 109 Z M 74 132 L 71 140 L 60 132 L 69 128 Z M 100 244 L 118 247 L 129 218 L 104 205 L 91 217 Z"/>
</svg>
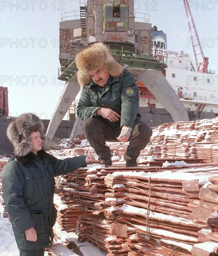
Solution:
<svg viewBox="0 0 218 256">
<path fill-rule="evenodd" d="M 146 13 L 134 12 L 134 0 L 80 0 L 78 12 L 62 13 L 58 79 L 66 84 L 47 129 L 50 139 L 80 91 L 75 56 L 96 41 L 109 47 L 114 59 L 146 86 L 174 121 L 188 121 L 184 105 L 163 74 L 167 67 L 165 56 L 152 56 L 149 18 Z M 76 119 L 71 137 L 78 134 L 78 129 L 81 121 Z"/>
</svg>

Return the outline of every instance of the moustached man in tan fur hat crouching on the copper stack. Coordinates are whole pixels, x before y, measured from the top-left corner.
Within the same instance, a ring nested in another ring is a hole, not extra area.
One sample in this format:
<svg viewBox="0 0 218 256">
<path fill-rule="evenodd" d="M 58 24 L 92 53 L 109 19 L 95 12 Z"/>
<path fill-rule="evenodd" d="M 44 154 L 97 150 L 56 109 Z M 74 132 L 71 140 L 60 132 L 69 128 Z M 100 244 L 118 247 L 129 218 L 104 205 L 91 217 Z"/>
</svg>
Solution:
<svg viewBox="0 0 218 256">
<path fill-rule="evenodd" d="M 139 89 L 103 43 L 95 43 L 76 56 L 77 78 L 83 85 L 77 115 L 84 121 L 83 131 L 99 163 L 112 165 L 106 141 L 129 141 L 124 159 L 126 167 L 136 167 L 140 151 L 150 141 L 152 130 L 141 121 Z M 119 137 L 128 128 L 130 135 Z"/>
</svg>

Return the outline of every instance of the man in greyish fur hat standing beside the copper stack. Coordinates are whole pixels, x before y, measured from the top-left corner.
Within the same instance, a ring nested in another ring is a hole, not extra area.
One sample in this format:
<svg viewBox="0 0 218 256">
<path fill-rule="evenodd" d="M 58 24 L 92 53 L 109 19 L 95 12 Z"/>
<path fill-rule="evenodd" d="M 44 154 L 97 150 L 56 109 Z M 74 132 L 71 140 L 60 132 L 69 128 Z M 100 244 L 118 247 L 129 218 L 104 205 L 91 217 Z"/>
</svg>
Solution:
<svg viewBox="0 0 218 256">
<path fill-rule="evenodd" d="M 42 121 L 31 113 L 20 115 L 7 128 L 14 156 L 3 168 L 2 187 L 20 256 L 44 256 L 52 243 L 57 217 L 54 176 L 94 161 L 93 155 L 58 160 L 46 153 L 50 141 L 43 129 Z"/>
</svg>

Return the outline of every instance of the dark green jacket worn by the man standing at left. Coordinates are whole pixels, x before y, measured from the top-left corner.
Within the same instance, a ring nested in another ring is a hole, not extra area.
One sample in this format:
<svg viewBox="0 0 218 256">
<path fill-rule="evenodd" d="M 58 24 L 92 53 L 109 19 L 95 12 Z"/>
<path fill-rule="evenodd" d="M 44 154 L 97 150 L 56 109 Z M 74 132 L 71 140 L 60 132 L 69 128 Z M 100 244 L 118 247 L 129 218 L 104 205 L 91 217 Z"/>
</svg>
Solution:
<svg viewBox="0 0 218 256">
<path fill-rule="evenodd" d="M 86 156 L 58 160 L 44 150 L 37 157 L 12 157 L 2 170 L 5 206 L 11 217 L 19 249 L 40 249 L 51 245 L 57 210 L 53 204 L 54 176 L 64 175 L 86 166 Z M 26 240 L 25 230 L 34 227 L 37 241 Z M 51 237 L 51 239 L 50 239 Z"/>
</svg>

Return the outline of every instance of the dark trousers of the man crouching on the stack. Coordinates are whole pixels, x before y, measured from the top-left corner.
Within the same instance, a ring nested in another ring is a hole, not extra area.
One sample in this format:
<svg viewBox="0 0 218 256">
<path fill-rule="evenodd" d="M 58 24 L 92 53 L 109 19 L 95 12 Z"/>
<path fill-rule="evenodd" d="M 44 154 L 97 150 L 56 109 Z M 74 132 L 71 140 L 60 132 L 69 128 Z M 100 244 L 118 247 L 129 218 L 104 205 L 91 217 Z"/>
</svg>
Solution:
<svg viewBox="0 0 218 256">
<path fill-rule="evenodd" d="M 99 117 L 87 118 L 83 123 L 83 131 L 87 141 L 94 148 L 99 159 L 111 157 L 111 150 L 106 141 L 117 142 L 120 128 L 114 128 Z M 129 138 L 129 145 L 124 155 L 125 160 L 136 160 L 140 151 L 146 147 L 152 136 L 152 130 L 141 121 L 135 121 Z"/>
</svg>

